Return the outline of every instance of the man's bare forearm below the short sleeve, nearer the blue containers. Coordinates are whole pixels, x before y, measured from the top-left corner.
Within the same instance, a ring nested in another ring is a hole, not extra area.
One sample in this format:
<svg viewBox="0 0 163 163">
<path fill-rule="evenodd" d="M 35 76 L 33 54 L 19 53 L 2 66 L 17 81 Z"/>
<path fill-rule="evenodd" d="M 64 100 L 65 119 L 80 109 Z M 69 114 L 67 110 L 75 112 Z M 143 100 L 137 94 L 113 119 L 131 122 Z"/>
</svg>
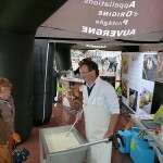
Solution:
<svg viewBox="0 0 163 163">
<path fill-rule="evenodd" d="M 109 128 L 108 128 L 106 133 L 104 134 L 104 138 L 108 138 L 109 136 L 111 136 L 112 134 L 115 133 L 116 124 L 118 122 L 118 115 L 120 114 L 112 114 L 111 115 L 110 125 L 109 125 Z"/>
</svg>

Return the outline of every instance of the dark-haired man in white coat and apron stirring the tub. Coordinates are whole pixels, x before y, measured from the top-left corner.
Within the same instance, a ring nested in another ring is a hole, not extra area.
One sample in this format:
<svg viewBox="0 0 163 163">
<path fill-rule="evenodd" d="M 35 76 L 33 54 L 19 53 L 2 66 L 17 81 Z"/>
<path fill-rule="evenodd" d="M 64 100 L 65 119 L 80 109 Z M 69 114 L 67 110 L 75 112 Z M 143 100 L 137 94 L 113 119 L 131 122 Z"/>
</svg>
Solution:
<svg viewBox="0 0 163 163">
<path fill-rule="evenodd" d="M 84 59 L 79 62 L 79 72 L 85 79 L 83 86 L 83 109 L 88 141 L 109 137 L 114 133 L 120 105 L 114 88 L 100 79 L 97 63 Z M 99 143 L 90 147 L 88 163 L 111 162 L 112 143 Z"/>
</svg>

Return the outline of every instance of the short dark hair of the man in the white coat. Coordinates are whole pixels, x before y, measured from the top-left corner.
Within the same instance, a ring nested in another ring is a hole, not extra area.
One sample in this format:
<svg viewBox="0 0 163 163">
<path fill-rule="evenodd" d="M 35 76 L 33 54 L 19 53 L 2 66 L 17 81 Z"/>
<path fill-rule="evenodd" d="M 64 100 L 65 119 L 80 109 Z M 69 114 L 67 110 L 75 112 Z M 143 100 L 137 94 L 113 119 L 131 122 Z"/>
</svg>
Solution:
<svg viewBox="0 0 163 163">
<path fill-rule="evenodd" d="M 86 65 L 90 71 L 96 71 L 96 75 L 99 76 L 99 67 L 98 67 L 98 64 L 96 62 L 93 62 L 91 60 L 91 58 L 86 58 L 86 59 L 83 59 L 79 63 L 78 63 L 79 67 L 82 67 L 83 65 Z"/>
</svg>

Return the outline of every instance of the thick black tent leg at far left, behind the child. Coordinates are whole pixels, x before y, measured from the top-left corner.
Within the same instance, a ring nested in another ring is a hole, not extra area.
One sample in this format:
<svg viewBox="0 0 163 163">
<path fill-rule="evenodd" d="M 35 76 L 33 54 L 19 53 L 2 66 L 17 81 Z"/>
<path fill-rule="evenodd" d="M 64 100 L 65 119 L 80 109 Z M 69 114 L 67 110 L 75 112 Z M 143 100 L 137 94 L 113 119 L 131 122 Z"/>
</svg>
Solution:
<svg viewBox="0 0 163 163">
<path fill-rule="evenodd" d="M 22 139 L 33 127 L 33 46 L 35 35 L 0 34 L 0 76 L 13 84 L 15 130 Z"/>
</svg>

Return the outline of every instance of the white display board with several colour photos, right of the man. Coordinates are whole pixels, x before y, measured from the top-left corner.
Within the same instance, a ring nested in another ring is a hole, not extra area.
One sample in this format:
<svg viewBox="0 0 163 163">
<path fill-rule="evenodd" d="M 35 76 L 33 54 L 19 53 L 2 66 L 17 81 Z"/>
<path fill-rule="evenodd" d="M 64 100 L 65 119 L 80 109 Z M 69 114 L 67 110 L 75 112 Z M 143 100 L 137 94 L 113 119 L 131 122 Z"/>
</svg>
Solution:
<svg viewBox="0 0 163 163">
<path fill-rule="evenodd" d="M 122 99 L 135 113 L 151 113 L 156 57 L 156 52 L 122 54 Z"/>
</svg>

